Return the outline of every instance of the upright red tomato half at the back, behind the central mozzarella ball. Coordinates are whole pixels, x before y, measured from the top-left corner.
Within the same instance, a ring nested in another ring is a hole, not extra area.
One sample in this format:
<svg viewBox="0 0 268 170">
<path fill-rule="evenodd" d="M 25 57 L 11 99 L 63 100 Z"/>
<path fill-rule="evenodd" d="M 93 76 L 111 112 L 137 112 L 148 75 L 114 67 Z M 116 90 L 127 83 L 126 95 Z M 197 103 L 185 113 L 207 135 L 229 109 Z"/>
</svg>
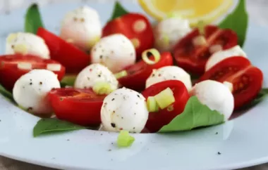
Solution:
<svg viewBox="0 0 268 170">
<path fill-rule="evenodd" d="M 128 13 L 105 25 L 103 37 L 116 33 L 124 34 L 131 41 L 136 41 L 133 44 L 136 44 L 137 58 L 140 58 L 142 52 L 152 48 L 154 44 L 154 33 L 150 22 L 139 13 Z"/>
</svg>

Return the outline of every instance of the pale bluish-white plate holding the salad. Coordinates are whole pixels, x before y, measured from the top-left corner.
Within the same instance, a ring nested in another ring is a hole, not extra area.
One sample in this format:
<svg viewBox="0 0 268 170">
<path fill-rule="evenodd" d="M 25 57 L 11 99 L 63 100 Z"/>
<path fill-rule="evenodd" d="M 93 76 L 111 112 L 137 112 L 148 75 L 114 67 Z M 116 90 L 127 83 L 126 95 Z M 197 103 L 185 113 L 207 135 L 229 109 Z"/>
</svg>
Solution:
<svg viewBox="0 0 268 170">
<path fill-rule="evenodd" d="M 81 4 L 41 8 L 45 26 L 56 32 L 64 13 Z M 110 17 L 113 4 L 90 4 Z M 130 11 L 138 5 L 124 3 Z M 23 31 L 25 11 L 0 15 L 0 52 L 10 32 Z M 268 76 L 267 30 L 250 24 L 245 51 Z M 0 155 L 58 169 L 236 169 L 268 162 L 268 100 L 226 124 L 172 134 L 135 134 L 131 148 L 113 144 L 116 133 L 81 130 L 54 136 L 32 137 L 38 118 L 0 97 Z M 218 132 L 218 134 L 215 134 Z M 221 155 L 218 155 L 221 152 Z"/>
</svg>

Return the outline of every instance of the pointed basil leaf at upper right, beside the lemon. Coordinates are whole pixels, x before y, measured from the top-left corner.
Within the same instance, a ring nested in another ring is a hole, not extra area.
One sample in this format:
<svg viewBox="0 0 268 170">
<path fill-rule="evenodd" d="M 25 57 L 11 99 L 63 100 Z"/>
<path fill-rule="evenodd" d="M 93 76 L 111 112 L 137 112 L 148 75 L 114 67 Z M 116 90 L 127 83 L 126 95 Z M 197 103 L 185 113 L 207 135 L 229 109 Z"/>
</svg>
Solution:
<svg viewBox="0 0 268 170">
<path fill-rule="evenodd" d="M 242 47 L 248 30 L 248 12 L 245 0 L 239 0 L 236 9 L 230 13 L 220 24 L 222 29 L 230 28 L 238 35 L 238 44 Z"/>
</svg>

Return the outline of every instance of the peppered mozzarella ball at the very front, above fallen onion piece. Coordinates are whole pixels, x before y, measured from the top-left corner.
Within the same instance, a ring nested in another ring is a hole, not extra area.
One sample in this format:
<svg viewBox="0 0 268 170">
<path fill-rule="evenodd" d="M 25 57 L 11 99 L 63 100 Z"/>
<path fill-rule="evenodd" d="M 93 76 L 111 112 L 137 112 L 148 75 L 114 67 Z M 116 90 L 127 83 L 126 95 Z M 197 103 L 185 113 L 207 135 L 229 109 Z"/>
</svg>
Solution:
<svg viewBox="0 0 268 170">
<path fill-rule="evenodd" d="M 148 119 L 148 110 L 142 94 L 122 88 L 104 98 L 101 110 L 106 131 L 126 130 L 140 133 Z"/>
</svg>

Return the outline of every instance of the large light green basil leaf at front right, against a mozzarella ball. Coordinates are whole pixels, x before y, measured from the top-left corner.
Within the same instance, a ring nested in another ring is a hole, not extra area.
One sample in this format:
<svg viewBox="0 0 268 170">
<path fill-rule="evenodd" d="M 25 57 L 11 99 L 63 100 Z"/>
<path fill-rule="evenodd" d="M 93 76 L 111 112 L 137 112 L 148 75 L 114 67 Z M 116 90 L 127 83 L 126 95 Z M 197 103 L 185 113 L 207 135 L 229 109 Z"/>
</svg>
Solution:
<svg viewBox="0 0 268 170">
<path fill-rule="evenodd" d="M 211 126 L 224 122 L 224 115 L 216 110 L 210 110 L 196 96 L 191 97 L 181 115 L 176 116 L 169 124 L 163 126 L 159 133 L 172 131 L 188 131 L 196 127 Z"/>
</svg>

